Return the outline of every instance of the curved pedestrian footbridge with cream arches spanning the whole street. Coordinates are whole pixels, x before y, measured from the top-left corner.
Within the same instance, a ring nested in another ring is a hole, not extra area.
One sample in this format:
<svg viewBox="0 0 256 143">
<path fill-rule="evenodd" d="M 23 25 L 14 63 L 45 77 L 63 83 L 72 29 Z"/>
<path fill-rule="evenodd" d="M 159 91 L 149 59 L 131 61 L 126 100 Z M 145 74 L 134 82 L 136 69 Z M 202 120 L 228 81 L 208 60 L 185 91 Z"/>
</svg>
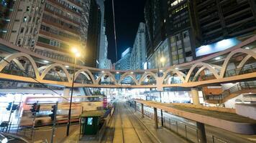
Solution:
<svg viewBox="0 0 256 143">
<path fill-rule="evenodd" d="M 74 87 L 158 90 L 248 81 L 256 78 L 255 44 L 256 36 L 253 36 L 231 49 L 159 70 L 119 71 L 76 65 L 73 72 L 74 64 L 36 54 L 0 39 L 0 78 L 61 87 L 71 87 L 74 80 Z"/>
</svg>

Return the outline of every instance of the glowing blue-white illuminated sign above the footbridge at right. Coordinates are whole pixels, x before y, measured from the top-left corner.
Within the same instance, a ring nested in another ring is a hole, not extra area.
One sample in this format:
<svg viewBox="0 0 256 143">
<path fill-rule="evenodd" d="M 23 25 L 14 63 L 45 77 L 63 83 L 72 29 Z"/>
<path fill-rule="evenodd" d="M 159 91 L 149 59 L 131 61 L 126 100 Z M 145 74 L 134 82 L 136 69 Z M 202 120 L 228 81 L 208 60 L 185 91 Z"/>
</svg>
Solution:
<svg viewBox="0 0 256 143">
<path fill-rule="evenodd" d="M 232 46 L 236 46 L 239 43 L 241 43 L 241 41 L 237 40 L 236 38 L 231 38 L 218 41 L 214 44 L 200 46 L 196 48 L 196 56 L 204 56 L 206 54 L 224 51 L 225 49 L 229 49 Z"/>
</svg>

